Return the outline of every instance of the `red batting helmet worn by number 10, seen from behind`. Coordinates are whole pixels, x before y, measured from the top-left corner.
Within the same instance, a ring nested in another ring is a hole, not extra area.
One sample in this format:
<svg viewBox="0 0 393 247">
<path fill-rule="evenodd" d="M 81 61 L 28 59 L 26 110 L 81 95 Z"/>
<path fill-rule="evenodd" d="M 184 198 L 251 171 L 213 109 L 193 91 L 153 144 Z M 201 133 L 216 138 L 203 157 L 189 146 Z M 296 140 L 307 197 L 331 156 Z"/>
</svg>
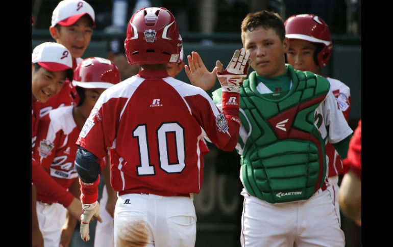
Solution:
<svg viewBox="0 0 393 247">
<path fill-rule="evenodd" d="M 142 8 L 128 23 L 124 47 L 129 64 L 167 64 L 179 61 L 182 43 L 172 13 Z"/>
</svg>

